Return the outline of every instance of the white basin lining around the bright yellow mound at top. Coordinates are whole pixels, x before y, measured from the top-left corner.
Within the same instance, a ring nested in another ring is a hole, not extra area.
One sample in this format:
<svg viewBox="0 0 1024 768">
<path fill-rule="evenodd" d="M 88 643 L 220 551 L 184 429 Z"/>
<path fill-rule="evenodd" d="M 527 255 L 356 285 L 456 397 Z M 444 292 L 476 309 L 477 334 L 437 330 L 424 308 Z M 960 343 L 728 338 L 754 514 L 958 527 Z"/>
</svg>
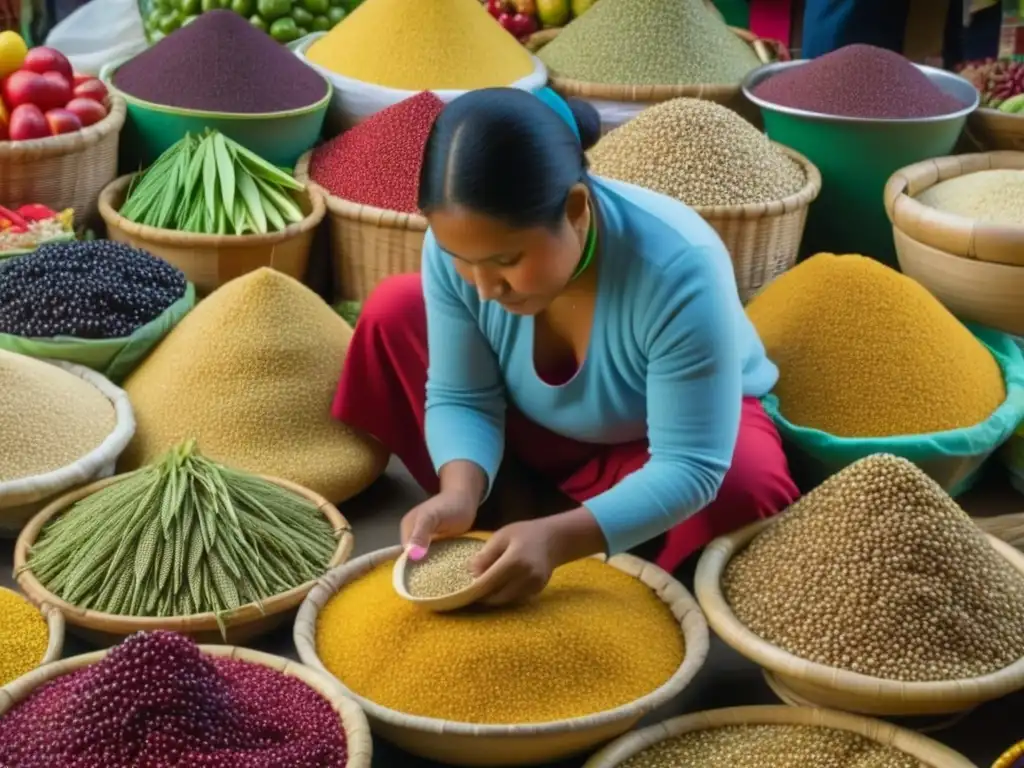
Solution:
<svg viewBox="0 0 1024 768">
<path fill-rule="evenodd" d="M 407 91 L 398 88 L 387 88 L 383 85 L 373 85 L 361 80 L 352 80 L 343 75 L 326 70 L 319 65 L 315 65 L 306 58 L 306 51 L 309 46 L 319 40 L 325 32 L 316 32 L 307 35 L 301 40 L 289 43 L 295 54 L 305 63 L 312 67 L 316 72 L 326 77 L 334 86 L 334 94 L 331 96 L 331 105 L 328 108 L 329 131 L 340 132 L 347 130 L 367 118 L 376 115 L 381 110 L 385 110 L 407 98 L 412 98 L 420 91 Z M 520 88 L 526 91 L 537 90 L 548 82 L 548 70 L 541 59 L 532 56 L 534 72 L 521 80 L 511 83 L 509 87 Z M 447 103 L 461 96 L 464 90 L 433 90 L 441 101 Z"/>
</svg>

